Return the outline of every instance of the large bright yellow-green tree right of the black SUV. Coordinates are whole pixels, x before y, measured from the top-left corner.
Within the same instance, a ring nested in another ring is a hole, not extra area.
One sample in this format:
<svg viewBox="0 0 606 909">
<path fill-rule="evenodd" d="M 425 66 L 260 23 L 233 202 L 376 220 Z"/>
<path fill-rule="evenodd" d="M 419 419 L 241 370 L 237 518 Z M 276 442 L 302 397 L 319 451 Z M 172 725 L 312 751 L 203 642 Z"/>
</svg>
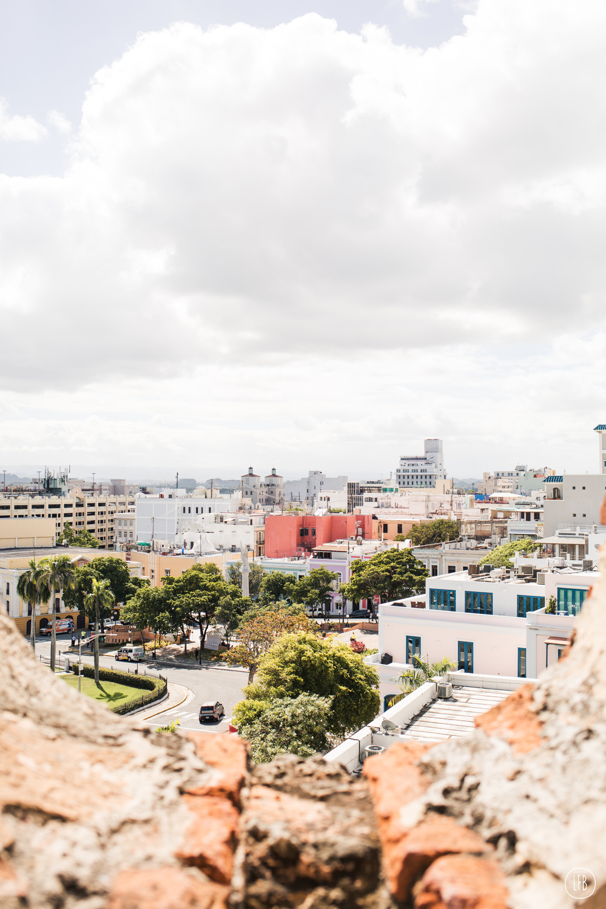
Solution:
<svg viewBox="0 0 606 909">
<path fill-rule="evenodd" d="M 309 632 L 283 634 L 260 660 L 246 698 L 267 702 L 305 693 L 332 698 L 328 728 L 335 734 L 362 728 L 381 709 L 376 669 L 350 647 Z"/>
</svg>

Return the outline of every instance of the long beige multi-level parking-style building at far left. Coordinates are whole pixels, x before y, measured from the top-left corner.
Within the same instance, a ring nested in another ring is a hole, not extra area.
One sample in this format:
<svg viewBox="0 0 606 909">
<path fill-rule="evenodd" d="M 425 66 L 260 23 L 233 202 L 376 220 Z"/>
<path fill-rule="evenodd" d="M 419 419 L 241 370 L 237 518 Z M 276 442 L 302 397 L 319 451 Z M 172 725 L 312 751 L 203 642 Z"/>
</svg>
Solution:
<svg viewBox="0 0 606 909">
<path fill-rule="evenodd" d="M 88 530 L 101 549 L 114 548 L 114 524 L 119 514 L 134 509 L 128 495 L 87 495 L 73 489 L 69 495 L 11 495 L 0 498 L 0 520 L 15 517 L 45 517 L 55 520 L 55 535 L 71 524 L 77 532 Z M 121 519 L 120 519 L 121 520 Z"/>
</svg>

